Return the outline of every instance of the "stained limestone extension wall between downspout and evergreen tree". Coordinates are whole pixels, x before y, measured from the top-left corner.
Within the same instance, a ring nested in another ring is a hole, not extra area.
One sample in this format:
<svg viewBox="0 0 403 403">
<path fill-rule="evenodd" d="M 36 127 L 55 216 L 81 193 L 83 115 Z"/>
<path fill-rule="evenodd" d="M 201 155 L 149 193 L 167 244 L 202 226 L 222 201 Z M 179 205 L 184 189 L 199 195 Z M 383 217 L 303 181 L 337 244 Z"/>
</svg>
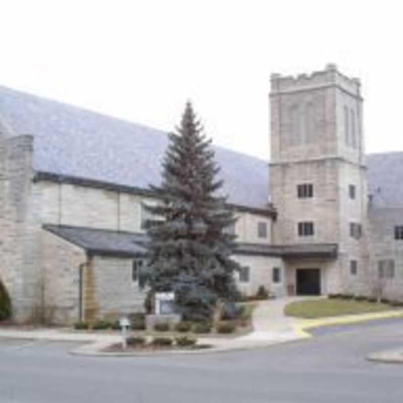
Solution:
<svg viewBox="0 0 403 403">
<path fill-rule="evenodd" d="M 132 281 L 132 259 L 94 256 L 84 273 L 87 320 L 116 318 L 144 310 L 146 291 Z"/>
</svg>

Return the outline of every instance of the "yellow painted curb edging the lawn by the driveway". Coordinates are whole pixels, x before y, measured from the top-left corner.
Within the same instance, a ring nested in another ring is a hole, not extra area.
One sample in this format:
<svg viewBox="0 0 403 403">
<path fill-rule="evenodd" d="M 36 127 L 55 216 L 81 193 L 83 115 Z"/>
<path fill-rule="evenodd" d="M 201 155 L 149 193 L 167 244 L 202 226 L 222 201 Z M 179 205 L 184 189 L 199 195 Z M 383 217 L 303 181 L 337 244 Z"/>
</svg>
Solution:
<svg viewBox="0 0 403 403">
<path fill-rule="evenodd" d="M 358 322 L 365 322 L 368 320 L 387 319 L 399 316 L 403 316 L 403 309 L 385 311 L 385 312 L 376 312 L 376 313 L 364 313 L 361 315 L 331 316 L 320 319 L 300 319 L 294 325 L 294 331 L 301 338 L 306 339 L 312 337 L 312 334 L 309 333 L 307 329 L 311 329 L 314 327 L 358 323 Z"/>
</svg>

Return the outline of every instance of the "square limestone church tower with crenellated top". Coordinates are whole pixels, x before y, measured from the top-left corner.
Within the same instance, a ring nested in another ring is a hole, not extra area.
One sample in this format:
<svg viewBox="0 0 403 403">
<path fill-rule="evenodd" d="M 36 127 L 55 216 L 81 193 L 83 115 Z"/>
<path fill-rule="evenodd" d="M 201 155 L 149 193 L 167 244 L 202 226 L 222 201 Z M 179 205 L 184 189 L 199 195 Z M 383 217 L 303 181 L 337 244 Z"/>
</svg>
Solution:
<svg viewBox="0 0 403 403">
<path fill-rule="evenodd" d="M 307 253 L 305 260 L 286 261 L 288 280 L 296 286 L 319 276 L 321 293 L 360 287 L 349 275 L 365 265 L 366 256 L 362 103 L 360 81 L 344 76 L 334 64 L 309 76 L 272 75 L 270 194 L 278 210 L 275 242 L 313 249 L 328 243 L 338 246 L 332 260 L 310 259 Z"/>
</svg>

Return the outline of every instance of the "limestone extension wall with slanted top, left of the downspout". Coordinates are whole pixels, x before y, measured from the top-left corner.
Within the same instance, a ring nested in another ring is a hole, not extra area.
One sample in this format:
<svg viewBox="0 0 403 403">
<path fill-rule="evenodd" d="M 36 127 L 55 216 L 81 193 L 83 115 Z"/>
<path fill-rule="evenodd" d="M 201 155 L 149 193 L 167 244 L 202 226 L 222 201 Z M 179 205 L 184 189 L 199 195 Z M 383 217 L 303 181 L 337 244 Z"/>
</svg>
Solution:
<svg viewBox="0 0 403 403">
<path fill-rule="evenodd" d="M 86 253 L 45 230 L 41 247 L 44 321 L 72 324 L 80 320 L 80 267 L 86 264 Z"/>
</svg>

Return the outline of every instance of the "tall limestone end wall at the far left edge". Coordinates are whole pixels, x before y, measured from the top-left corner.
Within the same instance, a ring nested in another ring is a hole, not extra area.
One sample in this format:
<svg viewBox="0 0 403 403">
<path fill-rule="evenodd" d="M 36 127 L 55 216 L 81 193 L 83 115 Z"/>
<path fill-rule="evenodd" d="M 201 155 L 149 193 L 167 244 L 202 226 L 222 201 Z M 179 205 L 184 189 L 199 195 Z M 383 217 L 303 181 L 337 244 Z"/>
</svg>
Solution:
<svg viewBox="0 0 403 403">
<path fill-rule="evenodd" d="M 0 276 L 17 321 L 35 320 L 42 297 L 40 192 L 32 183 L 33 138 L 10 137 L 2 146 Z"/>
</svg>

